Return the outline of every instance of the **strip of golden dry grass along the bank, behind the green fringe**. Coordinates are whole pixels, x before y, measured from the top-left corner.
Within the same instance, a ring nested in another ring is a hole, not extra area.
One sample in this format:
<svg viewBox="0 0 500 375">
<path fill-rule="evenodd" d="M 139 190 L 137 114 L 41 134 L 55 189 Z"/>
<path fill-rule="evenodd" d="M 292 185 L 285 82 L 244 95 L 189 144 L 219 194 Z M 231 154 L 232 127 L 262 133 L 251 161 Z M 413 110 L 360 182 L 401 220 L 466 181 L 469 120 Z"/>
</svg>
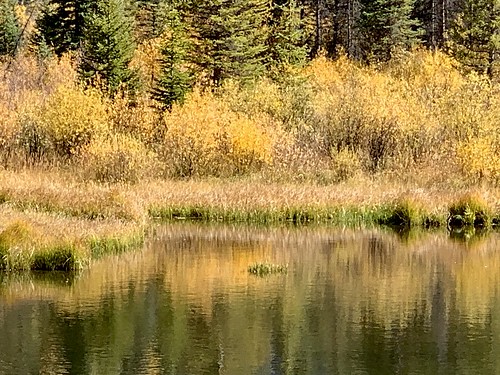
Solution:
<svg viewBox="0 0 500 375">
<path fill-rule="evenodd" d="M 279 215 L 286 210 L 368 210 L 401 201 L 415 202 L 427 213 L 446 217 L 449 207 L 466 194 L 481 198 L 491 212 L 499 212 L 498 188 L 443 189 L 418 186 L 414 182 L 389 182 L 383 178 L 360 178 L 328 186 L 269 183 L 255 178 L 156 179 L 136 184 L 99 184 L 82 182 L 67 172 L 0 171 L 0 196 L 9 207 L 85 219 L 131 221 L 139 225 L 147 223 L 155 209 L 197 208 L 214 214 L 241 213 L 244 217 L 252 212 Z M 259 221 L 258 215 L 255 218 Z"/>
</svg>

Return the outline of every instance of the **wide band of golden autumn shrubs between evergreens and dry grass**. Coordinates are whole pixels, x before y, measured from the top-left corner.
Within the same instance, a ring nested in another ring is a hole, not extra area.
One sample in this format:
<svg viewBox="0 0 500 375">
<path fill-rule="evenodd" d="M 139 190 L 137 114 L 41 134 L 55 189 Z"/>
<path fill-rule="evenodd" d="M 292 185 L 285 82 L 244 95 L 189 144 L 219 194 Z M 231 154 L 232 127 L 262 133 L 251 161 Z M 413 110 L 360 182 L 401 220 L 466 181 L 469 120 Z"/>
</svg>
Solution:
<svg viewBox="0 0 500 375">
<path fill-rule="evenodd" d="M 40 65 L 19 56 L 2 66 L 3 168 L 99 182 L 500 181 L 499 86 L 461 74 L 440 52 L 417 50 L 378 67 L 320 57 L 280 80 L 195 88 L 169 111 L 147 95 L 110 98 L 76 74 L 64 57 Z"/>
</svg>

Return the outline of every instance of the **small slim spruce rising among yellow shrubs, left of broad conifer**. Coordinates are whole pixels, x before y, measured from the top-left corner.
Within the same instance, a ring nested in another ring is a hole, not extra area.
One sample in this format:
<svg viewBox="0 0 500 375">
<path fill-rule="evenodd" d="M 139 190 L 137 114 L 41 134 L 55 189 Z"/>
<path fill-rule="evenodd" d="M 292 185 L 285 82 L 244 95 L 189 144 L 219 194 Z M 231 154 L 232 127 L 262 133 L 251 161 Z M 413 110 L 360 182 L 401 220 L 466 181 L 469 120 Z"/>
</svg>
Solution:
<svg viewBox="0 0 500 375">
<path fill-rule="evenodd" d="M 192 74 L 186 63 L 189 41 L 180 13 L 171 9 L 167 19 L 167 35 L 161 49 L 161 73 L 153 91 L 153 98 L 164 109 L 170 110 L 176 102 L 182 103 L 184 96 L 191 89 Z"/>
</svg>

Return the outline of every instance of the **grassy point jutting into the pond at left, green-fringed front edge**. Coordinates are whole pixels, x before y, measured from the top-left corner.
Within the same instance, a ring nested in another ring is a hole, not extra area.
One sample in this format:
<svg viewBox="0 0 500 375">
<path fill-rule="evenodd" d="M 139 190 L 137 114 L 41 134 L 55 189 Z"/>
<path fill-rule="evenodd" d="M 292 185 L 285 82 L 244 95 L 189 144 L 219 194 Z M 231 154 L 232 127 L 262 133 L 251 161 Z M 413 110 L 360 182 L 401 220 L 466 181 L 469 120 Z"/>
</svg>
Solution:
<svg viewBox="0 0 500 375">
<path fill-rule="evenodd" d="M 105 254 L 141 247 L 136 223 L 84 220 L 36 211 L 0 210 L 0 268 L 78 270 Z"/>
</svg>

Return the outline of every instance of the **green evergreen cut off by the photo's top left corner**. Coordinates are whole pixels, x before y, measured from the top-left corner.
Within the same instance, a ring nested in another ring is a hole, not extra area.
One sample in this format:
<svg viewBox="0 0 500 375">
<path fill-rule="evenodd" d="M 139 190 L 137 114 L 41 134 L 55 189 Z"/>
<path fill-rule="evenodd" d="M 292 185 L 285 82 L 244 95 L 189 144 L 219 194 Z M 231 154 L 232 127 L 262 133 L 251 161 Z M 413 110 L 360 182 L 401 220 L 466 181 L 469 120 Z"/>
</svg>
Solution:
<svg viewBox="0 0 500 375">
<path fill-rule="evenodd" d="M 15 13 L 16 0 L 0 0 L 0 55 L 13 56 L 21 35 Z"/>
</svg>

